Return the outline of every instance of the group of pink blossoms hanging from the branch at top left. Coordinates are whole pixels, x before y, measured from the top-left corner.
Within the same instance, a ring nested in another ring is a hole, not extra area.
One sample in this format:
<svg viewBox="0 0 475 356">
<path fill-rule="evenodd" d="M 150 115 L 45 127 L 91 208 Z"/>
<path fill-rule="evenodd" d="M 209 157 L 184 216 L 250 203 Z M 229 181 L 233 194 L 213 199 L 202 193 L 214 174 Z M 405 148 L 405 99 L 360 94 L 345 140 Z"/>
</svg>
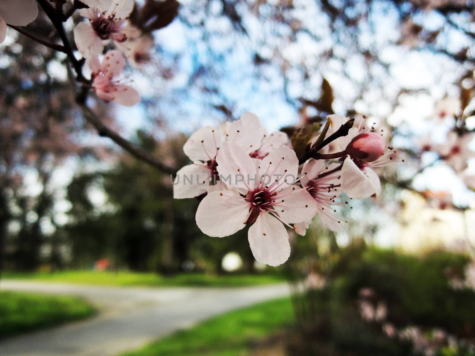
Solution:
<svg viewBox="0 0 475 356">
<path fill-rule="evenodd" d="M 86 21 L 74 29 L 76 46 L 89 61 L 91 80 L 97 96 L 104 101 L 115 101 L 133 106 L 140 102 L 139 93 L 121 75 L 125 56 L 134 66 L 140 67 L 153 47 L 150 35 L 142 35 L 140 29 L 128 23 L 133 11 L 133 0 L 84 0 L 88 6 L 79 13 Z M 102 63 L 99 58 L 104 45 L 111 43 L 116 49 L 105 53 Z M 125 55 L 125 56 L 124 56 Z"/>
</svg>

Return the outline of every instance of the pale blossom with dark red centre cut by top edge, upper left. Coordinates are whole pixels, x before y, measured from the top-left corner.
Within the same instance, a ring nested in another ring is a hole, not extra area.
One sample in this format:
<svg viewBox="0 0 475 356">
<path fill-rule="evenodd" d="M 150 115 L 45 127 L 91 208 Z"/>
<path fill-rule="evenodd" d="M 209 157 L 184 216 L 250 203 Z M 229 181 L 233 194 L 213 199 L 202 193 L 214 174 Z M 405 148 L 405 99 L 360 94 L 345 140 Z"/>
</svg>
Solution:
<svg viewBox="0 0 475 356">
<path fill-rule="evenodd" d="M 116 47 L 131 35 L 138 36 L 136 29 L 126 25 L 127 17 L 133 10 L 133 0 L 84 0 L 89 9 L 79 13 L 89 20 L 81 22 L 74 29 L 74 37 L 79 52 L 86 58 L 102 54 L 104 41 L 112 41 Z"/>
</svg>

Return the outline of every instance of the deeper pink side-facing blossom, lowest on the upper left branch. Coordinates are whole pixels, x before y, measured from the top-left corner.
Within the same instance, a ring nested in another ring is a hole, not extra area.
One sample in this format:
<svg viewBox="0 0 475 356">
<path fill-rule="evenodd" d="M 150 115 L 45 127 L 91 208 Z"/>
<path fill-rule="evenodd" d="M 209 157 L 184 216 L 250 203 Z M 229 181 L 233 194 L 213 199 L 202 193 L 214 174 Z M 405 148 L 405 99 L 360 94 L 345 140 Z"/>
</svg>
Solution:
<svg viewBox="0 0 475 356">
<path fill-rule="evenodd" d="M 133 106 L 140 102 L 139 93 L 124 84 L 125 77 L 120 76 L 125 67 L 122 53 L 114 49 L 107 52 L 101 63 L 98 57 L 89 61 L 95 93 L 105 101 L 115 101 L 125 106 Z"/>
</svg>

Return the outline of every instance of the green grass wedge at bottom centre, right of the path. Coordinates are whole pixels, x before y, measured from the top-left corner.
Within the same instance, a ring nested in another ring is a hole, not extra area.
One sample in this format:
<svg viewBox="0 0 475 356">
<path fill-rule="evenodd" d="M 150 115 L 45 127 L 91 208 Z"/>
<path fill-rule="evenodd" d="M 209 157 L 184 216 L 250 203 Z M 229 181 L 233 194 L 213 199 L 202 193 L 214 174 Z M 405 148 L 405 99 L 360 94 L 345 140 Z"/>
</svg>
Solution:
<svg viewBox="0 0 475 356">
<path fill-rule="evenodd" d="M 209 319 L 123 356 L 246 355 L 253 343 L 292 320 L 290 299 L 266 301 Z"/>
</svg>

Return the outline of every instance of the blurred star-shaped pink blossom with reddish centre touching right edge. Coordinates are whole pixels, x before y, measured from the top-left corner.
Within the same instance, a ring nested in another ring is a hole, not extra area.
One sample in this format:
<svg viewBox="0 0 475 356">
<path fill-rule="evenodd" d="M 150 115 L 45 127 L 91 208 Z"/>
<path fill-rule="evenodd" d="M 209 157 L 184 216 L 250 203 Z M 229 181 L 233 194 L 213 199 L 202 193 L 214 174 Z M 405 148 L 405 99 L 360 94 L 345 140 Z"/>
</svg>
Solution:
<svg viewBox="0 0 475 356">
<path fill-rule="evenodd" d="M 468 144 L 473 138 L 473 133 L 459 136 L 456 132 L 450 131 L 447 134 L 447 142 L 436 145 L 435 150 L 448 166 L 452 167 L 456 172 L 461 172 L 467 168 L 467 160 L 475 157 L 475 152 L 468 148 Z"/>
</svg>

